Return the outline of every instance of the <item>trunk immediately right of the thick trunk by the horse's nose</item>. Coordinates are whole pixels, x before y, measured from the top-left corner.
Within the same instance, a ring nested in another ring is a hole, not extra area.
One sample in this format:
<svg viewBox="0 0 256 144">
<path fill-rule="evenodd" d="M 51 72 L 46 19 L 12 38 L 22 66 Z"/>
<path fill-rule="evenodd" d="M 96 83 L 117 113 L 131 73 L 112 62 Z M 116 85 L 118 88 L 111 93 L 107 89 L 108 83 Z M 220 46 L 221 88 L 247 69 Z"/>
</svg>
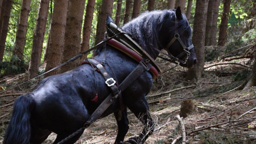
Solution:
<svg viewBox="0 0 256 144">
<path fill-rule="evenodd" d="M 215 23 L 217 24 L 218 17 L 216 17 L 216 10 L 218 10 L 217 6 L 219 7 L 218 3 L 219 3 L 219 0 L 209 0 L 208 10 L 207 10 L 206 29 L 205 29 L 205 31 L 207 31 L 207 33 L 205 33 L 205 42 L 204 42 L 205 46 L 215 45 L 216 43 L 216 38 L 215 38 L 215 42 L 213 42 L 214 39 L 212 38 L 216 37 Z M 215 36 L 212 32 L 215 33 Z"/>
</svg>

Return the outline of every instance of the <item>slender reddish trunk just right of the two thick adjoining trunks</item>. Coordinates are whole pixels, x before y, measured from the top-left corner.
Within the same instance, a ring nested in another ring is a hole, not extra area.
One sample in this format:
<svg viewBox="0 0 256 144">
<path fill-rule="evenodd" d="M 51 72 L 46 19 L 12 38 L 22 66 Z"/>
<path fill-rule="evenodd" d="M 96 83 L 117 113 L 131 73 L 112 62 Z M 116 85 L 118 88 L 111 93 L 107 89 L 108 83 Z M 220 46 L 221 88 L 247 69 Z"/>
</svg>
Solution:
<svg viewBox="0 0 256 144">
<path fill-rule="evenodd" d="M 80 51 L 87 51 L 90 46 L 90 35 L 92 30 L 92 22 L 93 22 L 93 12 L 95 7 L 95 0 L 90 0 L 86 6 L 85 12 L 85 21 L 84 21 L 84 28 L 83 28 L 83 41 L 81 43 L 81 50 Z M 88 54 L 82 56 L 80 60 L 84 60 L 87 58 Z"/>
</svg>

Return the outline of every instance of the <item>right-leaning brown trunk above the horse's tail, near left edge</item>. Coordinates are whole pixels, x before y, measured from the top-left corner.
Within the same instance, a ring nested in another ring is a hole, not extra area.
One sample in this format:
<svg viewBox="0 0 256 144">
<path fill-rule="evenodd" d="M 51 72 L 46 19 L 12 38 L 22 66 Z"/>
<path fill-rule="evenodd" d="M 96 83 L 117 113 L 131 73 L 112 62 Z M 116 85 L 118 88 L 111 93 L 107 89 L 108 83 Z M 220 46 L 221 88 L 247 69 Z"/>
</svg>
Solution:
<svg viewBox="0 0 256 144">
<path fill-rule="evenodd" d="M 23 49 L 26 44 L 27 21 L 30 12 L 31 0 L 23 0 L 19 17 L 19 24 L 16 32 L 16 40 L 13 55 L 22 60 Z"/>
</svg>

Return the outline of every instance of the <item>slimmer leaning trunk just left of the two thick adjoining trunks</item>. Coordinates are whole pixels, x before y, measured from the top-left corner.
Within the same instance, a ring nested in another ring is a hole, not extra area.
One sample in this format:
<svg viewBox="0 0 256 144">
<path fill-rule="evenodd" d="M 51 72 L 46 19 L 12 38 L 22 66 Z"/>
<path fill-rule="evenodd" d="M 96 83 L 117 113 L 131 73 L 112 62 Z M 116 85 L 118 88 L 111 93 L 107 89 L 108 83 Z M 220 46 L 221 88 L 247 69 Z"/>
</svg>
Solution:
<svg viewBox="0 0 256 144">
<path fill-rule="evenodd" d="M 38 74 L 40 49 L 43 47 L 43 38 L 45 32 L 45 25 L 47 23 L 47 15 L 49 10 L 49 0 L 40 0 L 38 13 L 36 17 L 36 25 L 33 36 L 33 46 L 31 50 L 31 57 L 28 67 L 29 78 L 34 78 Z"/>
</svg>

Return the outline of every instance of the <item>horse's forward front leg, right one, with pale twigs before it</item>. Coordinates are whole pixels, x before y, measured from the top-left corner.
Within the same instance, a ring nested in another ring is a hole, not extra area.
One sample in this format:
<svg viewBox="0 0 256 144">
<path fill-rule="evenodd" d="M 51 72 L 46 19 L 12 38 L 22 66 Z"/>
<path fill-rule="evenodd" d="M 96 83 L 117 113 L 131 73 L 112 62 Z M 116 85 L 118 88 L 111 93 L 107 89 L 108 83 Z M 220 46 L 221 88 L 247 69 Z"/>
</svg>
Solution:
<svg viewBox="0 0 256 144">
<path fill-rule="evenodd" d="M 147 138 L 154 132 L 155 127 L 154 121 L 149 112 L 147 99 L 145 96 L 141 97 L 135 103 L 127 106 L 144 125 L 143 131 L 140 133 L 139 137 L 132 138 L 127 142 L 131 144 L 144 144 Z"/>
</svg>

